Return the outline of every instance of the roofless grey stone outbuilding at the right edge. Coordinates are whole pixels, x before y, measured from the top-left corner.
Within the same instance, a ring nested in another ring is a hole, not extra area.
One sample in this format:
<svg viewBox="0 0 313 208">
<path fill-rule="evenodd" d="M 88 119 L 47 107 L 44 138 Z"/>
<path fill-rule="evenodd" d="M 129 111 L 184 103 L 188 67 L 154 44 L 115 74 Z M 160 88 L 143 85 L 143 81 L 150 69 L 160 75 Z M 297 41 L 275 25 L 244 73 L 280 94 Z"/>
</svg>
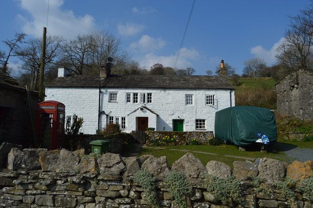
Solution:
<svg viewBox="0 0 313 208">
<path fill-rule="evenodd" d="M 277 110 L 313 121 L 313 73 L 299 70 L 276 84 Z"/>
</svg>

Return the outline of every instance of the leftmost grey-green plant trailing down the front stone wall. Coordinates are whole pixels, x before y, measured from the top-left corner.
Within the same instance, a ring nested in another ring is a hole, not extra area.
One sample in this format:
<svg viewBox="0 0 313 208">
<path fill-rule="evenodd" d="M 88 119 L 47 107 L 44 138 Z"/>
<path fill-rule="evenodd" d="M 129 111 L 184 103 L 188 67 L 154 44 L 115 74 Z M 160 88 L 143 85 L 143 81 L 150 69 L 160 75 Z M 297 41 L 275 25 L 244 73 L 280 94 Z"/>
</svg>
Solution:
<svg viewBox="0 0 313 208">
<path fill-rule="evenodd" d="M 138 183 L 146 193 L 147 202 L 154 207 L 157 207 L 156 201 L 156 179 L 147 169 L 142 169 L 134 175 L 134 182 Z"/>
</svg>

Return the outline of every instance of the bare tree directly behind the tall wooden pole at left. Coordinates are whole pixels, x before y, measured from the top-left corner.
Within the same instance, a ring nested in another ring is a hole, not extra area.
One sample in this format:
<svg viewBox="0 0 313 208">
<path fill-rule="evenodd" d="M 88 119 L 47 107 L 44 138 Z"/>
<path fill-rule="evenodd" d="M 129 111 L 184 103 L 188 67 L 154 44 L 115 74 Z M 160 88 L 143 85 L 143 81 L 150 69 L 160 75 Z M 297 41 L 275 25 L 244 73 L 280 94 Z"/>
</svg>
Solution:
<svg viewBox="0 0 313 208">
<path fill-rule="evenodd" d="M 58 60 L 63 42 L 64 40 L 60 36 L 47 36 L 44 59 L 45 71 Z M 25 47 L 17 51 L 17 55 L 23 62 L 22 69 L 31 74 L 30 87 L 38 89 L 42 40 L 35 38 L 26 43 Z"/>
</svg>

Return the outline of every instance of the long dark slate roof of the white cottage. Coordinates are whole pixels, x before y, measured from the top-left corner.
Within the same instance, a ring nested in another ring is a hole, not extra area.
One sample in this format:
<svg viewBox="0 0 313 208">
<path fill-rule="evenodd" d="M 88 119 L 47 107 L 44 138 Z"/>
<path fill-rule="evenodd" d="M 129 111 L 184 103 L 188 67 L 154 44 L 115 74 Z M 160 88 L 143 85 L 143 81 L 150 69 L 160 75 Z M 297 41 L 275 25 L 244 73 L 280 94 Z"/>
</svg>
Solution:
<svg viewBox="0 0 313 208">
<path fill-rule="evenodd" d="M 98 76 L 67 75 L 46 87 L 98 87 Z M 234 89 L 227 78 L 218 76 L 112 75 L 102 78 L 101 87 L 166 89 Z"/>
</svg>

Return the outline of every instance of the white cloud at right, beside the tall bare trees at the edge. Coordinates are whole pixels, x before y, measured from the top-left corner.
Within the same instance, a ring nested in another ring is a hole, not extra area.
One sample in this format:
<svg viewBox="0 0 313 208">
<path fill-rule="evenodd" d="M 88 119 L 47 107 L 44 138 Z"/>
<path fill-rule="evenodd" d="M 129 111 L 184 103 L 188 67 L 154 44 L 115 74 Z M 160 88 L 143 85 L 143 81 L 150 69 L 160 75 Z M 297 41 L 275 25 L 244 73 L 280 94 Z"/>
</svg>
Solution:
<svg viewBox="0 0 313 208">
<path fill-rule="evenodd" d="M 261 45 L 258 45 L 258 46 L 251 48 L 250 51 L 256 57 L 265 60 L 268 64 L 272 64 L 276 60 L 275 56 L 278 53 L 277 48 L 282 42 L 284 42 L 284 40 L 285 40 L 284 38 L 281 38 L 278 42 L 275 42 L 274 45 L 269 50 L 266 50 Z"/>
</svg>

